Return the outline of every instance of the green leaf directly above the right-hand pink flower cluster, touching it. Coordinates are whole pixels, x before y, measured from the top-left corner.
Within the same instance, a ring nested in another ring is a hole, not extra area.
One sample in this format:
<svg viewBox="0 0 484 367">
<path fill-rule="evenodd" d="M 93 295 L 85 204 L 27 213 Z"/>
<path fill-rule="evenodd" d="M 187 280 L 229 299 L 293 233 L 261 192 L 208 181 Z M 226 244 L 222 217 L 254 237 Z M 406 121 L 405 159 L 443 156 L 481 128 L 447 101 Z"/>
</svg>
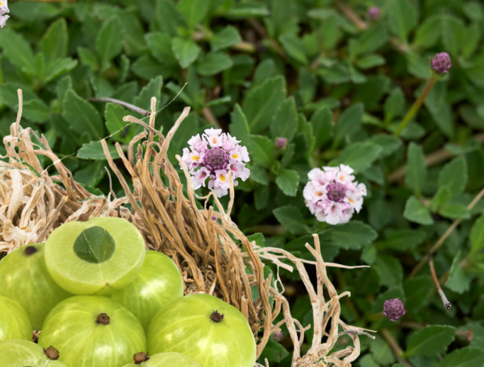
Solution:
<svg viewBox="0 0 484 367">
<path fill-rule="evenodd" d="M 355 173 L 363 172 L 370 168 L 371 164 L 380 156 L 381 150 L 381 146 L 370 141 L 354 143 L 343 149 L 334 161 L 334 165 L 349 165 Z"/>
</svg>

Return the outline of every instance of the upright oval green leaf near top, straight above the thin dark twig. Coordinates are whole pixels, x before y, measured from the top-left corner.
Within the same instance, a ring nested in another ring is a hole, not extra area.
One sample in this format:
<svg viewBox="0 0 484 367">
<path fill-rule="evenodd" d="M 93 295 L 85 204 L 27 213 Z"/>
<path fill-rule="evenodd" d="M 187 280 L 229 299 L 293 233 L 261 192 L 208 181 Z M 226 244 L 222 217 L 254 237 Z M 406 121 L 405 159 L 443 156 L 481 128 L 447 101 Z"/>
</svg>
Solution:
<svg viewBox="0 0 484 367">
<path fill-rule="evenodd" d="M 96 38 L 96 53 L 101 60 L 101 69 L 106 70 L 111 60 L 118 56 L 123 48 L 123 24 L 117 16 L 106 21 Z"/>
</svg>

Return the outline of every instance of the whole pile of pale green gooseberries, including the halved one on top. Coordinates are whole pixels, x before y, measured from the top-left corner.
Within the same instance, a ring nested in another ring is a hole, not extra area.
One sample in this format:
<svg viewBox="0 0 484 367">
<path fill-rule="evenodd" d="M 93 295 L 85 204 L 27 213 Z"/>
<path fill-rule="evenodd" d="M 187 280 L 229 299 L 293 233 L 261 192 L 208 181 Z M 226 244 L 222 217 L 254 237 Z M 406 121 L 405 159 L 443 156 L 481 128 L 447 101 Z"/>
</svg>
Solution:
<svg viewBox="0 0 484 367">
<path fill-rule="evenodd" d="M 244 315 L 212 295 L 184 296 L 174 261 L 145 250 L 140 231 L 120 218 L 82 214 L 46 243 L 1 259 L 0 310 L 0 367 L 253 367 L 256 360 Z"/>
</svg>

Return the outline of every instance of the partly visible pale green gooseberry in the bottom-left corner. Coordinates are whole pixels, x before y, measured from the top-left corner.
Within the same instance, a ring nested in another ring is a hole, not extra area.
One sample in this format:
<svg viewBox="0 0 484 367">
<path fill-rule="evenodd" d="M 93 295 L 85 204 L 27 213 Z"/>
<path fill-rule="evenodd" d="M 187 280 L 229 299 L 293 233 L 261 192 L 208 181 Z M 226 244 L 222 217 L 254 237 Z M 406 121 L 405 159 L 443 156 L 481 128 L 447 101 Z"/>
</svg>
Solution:
<svg viewBox="0 0 484 367">
<path fill-rule="evenodd" d="M 60 358 L 51 361 L 43 347 L 32 341 L 0 341 L 0 356 L 0 367 L 66 367 Z"/>
</svg>

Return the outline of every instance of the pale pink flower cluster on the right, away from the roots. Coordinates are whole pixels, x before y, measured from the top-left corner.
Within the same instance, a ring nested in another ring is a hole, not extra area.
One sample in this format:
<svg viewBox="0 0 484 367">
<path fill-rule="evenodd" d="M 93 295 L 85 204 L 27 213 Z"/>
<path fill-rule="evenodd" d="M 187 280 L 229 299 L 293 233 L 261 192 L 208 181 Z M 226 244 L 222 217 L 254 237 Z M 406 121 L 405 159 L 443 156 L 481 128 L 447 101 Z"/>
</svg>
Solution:
<svg viewBox="0 0 484 367">
<path fill-rule="evenodd" d="M 314 168 L 304 187 L 305 204 L 318 221 L 328 224 L 347 223 L 354 211 L 359 212 L 366 196 L 366 186 L 354 181 L 347 165 Z"/>
</svg>

